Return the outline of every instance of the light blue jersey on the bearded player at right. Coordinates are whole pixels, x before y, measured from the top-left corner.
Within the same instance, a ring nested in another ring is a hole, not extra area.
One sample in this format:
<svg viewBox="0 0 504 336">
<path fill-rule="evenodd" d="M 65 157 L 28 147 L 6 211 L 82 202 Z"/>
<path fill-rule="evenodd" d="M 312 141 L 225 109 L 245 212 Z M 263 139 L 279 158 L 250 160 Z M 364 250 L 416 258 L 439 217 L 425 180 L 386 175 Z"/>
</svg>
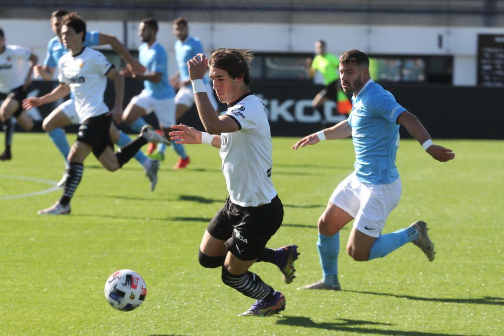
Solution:
<svg viewBox="0 0 504 336">
<path fill-rule="evenodd" d="M 396 153 L 399 146 L 397 117 L 406 111 L 381 85 L 369 80 L 352 97 L 348 124 L 355 147 L 355 172 L 361 182 L 385 184 L 399 178 Z"/>
</svg>

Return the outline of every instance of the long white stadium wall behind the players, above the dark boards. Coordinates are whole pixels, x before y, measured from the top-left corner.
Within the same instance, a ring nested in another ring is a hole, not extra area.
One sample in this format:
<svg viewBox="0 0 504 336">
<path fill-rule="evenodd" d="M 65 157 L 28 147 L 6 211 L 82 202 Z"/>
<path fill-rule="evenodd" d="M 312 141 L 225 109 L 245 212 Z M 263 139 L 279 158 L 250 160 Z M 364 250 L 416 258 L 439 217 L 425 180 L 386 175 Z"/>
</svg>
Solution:
<svg viewBox="0 0 504 336">
<path fill-rule="evenodd" d="M 52 37 L 48 20 L 0 20 L 7 43 L 31 47 L 42 62 Z M 88 30 L 115 35 L 136 49 L 138 22 L 88 21 Z M 476 85 L 478 34 L 503 34 L 504 28 L 446 26 L 364 26 L 315 24 L 190 23 L 209 53 L 219 47 L 248 48 L 262 52 L 312 52 L 313 42 L 324 39 L 328 50 L 339 54 L 359 48 L 371 54 L 429 54 L 454 56 L 454 84 Z M 442 43 L 439 43 L 441 39 Z M 167 49 L 169 72 L 176 71 L 170 22 L 160 22 L 158 41 Z M 108 47 L 104 47 L 108 48 Z"/>
</svg>

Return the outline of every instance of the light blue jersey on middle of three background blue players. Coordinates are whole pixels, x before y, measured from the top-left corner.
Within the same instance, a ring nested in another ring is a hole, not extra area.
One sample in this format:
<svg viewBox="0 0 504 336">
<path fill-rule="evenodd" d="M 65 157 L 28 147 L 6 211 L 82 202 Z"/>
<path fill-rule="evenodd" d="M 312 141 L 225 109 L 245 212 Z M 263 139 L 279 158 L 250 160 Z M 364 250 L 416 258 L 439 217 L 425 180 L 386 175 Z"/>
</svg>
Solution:
<svg viewBox="0 0 504 336">
<path fill-rule="evenodd" d="M 154 42 L 149 47 L 147 43 L 142 43 L 138 51 L 138 59 L 147 68 L 147 72 L 162 74 L 159 83 L 144 81 L 144 91 L 156 99 L 175 97 L 175 91 L 168 82 L 168 55 L 161 44 Z"/>
</svg>

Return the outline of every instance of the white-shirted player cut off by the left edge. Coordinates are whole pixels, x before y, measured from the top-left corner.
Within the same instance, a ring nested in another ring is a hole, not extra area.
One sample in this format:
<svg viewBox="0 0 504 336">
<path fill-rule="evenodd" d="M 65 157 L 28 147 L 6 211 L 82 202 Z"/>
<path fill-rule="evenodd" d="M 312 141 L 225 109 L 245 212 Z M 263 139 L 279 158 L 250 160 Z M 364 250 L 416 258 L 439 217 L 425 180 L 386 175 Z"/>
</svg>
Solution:
<svg viewBox="0 0 504 336">
<path fill-rule="evenodd" d="M 30 63 L 29 66 L 27 63 Z M 19 45 L 6 45 L 4 30 L 0 28 L 0 119 L 5 131 L 5 151 L 0 161 L 12 159 L 11 144 L 14 125 L 11 117 L 25 130 L 31 130 L 35 123 L 21 107 L 26 98 L 26 90 L 31 84 L 32 66 L 37 63 L 29 48 Z M 28 68 L 28 71 L 27 71 Z"/>
</svg>

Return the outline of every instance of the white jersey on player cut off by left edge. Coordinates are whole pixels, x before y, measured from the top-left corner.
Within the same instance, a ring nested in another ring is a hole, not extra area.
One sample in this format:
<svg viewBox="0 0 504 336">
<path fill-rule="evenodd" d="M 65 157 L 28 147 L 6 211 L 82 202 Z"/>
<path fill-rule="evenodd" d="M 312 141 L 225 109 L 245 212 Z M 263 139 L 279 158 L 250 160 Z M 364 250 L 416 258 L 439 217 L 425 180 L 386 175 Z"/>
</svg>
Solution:
<svg viewBox="0 0 504 336">
<path fill-rule="evenodd" d="M 20 45 L 6 45 L 0 54 L 0 93 L 7 94 L 11 90 L 25 84 L 28 66 L 25 62 L 32 54 L 30 48 Z"/>
</svg>

